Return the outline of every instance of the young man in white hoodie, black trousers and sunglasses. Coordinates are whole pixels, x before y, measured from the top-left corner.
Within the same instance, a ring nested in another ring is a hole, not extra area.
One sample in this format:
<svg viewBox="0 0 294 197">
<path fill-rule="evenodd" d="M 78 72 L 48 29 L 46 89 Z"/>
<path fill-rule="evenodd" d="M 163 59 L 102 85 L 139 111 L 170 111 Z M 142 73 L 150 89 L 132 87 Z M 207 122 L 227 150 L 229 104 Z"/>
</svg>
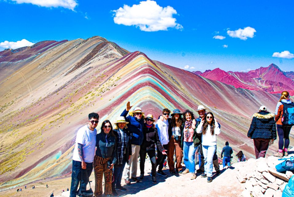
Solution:
<svg viewBox="0 0 294 197">
<path fill-rule="evenodd" d="M 157 128 L 159 140 L 164 147 L 165 151 L 168 150 L 169 143 L 169 123 L 171 119 L 169 118 L 170 110 L 165 108 L 162 110 L 163 120 L 158 119 L 155 127 Z M 167 175 L 162 171 L 164 160 L 166 155 L 163 155 L 160 151 L 157 151 L 156 164 L 158 165 L 157 174 L 166 177 Z"/>
</svg>

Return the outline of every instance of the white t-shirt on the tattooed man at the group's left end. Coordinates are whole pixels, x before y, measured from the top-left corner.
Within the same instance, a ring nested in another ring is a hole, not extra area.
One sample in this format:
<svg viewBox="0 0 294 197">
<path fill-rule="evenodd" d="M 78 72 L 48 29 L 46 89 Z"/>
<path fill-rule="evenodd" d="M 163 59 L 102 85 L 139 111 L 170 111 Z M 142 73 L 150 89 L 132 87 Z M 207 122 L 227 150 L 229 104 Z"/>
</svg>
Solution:
<svg viewBox="0 0 294 197">
<path fill-rule="evenodd" d="M 89 130 L 88 125 L 77 131 L 76 145 L 73 150 L 73 160 L 81 161 L 77 150 L 77 143 L 83 144 L 85 162 L 91 163 L 94 160 L 97 130 Z"/>
</svg>

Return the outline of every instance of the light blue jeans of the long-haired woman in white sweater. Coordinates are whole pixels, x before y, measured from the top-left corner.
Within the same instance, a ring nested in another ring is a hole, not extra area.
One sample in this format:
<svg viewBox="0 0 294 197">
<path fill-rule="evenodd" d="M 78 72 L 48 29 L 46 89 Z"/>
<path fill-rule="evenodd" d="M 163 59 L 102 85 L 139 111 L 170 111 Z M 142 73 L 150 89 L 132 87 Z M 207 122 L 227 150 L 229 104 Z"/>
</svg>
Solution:
<svg viewBox="0 0 294 197">
<path fill-rule="evenodd" d="M 212 177 L 213 155 L 214 155 L 216 148 L 217 148 L 217 145 L 213 145 L 213 146 L 203 146 L 202 145 L 202 151 L 203 151 L 203 155 L 204 155 L 204 173 L 208 177 Z"/>
</svg>

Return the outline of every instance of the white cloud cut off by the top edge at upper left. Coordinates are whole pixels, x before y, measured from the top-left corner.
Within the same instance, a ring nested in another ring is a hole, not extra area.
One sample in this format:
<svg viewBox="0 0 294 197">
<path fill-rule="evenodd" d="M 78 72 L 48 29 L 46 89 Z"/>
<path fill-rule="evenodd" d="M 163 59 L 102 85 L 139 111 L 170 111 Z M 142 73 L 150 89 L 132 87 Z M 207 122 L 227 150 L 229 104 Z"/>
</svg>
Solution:
<svg viewBox="0 0 294 197">
<path fill-rule="evenodd" d="M 77 6 L 76 0 L 10 0 L 18 4 L 31 3 L 42 7 L 64 7 L 66 9 L 74 10 Z"/>
</svg>

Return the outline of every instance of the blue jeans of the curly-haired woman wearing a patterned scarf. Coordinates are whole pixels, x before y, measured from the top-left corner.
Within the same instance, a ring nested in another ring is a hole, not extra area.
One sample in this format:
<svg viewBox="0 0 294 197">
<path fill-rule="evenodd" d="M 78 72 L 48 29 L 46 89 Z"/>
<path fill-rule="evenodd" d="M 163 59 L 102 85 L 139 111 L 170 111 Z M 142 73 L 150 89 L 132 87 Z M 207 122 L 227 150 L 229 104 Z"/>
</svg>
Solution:
<svg viewBox="0 0 294 197">
<path fill-rule="evenodd" d="M 189 169 L 189 172 L 195 173 L 195 151 L 197 147 L 194 147 L 193 142 L 184 142 L 183 151 L 184 151 L 184 163 L 186 169 Z"/>
</svg>

